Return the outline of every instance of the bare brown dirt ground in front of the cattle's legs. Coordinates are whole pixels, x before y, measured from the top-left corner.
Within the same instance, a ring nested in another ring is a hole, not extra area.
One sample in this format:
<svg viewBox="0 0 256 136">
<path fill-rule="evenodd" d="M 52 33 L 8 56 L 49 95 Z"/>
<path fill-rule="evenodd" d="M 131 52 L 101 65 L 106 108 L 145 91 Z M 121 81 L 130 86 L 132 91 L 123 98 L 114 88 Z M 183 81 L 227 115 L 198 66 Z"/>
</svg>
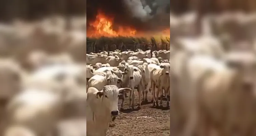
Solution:
<svg viewBox="0 0 256 136">
<path fill-rule="evenodd" d="M 129 94 L 128 94 L 129 95 Z M 136 91 L 136 103 L 139 97 Z M 170 136 L 170 109 L 166 108 L 166 101 L 163 107 L 154 108 L 152 95 L 148 93 L 148 103 L 142 104 L 141 108 L 135 106 L 134 110 L 129 110 L 129 99 L 124 102 L 124 111 L 110 123 L 107 136 Z M 121 100 L 119 100 L 120 109 Z"/>
</svg>

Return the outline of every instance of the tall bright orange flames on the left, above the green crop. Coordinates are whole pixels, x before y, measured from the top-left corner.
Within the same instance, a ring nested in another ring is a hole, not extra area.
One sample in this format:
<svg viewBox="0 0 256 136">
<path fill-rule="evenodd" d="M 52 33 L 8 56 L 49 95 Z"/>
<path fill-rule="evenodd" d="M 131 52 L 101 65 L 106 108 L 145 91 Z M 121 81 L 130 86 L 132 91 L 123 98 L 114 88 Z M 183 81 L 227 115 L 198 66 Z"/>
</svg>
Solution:
<svg viewBox="0 0 256 136">
<path fill-rule="evenodd" d="M 90 27 L 93 27 L 93 31 L 89 30 L 87 35 L 89 37 L 100 37 L 100 36 L 135 36 L 136 30 L 130 27 L 118 27 L 115 31 L 113 30 L 113 18 L 105 16 L 103 13 L 98 12 L 96 20 L 89 23 Z"/>
</svg>

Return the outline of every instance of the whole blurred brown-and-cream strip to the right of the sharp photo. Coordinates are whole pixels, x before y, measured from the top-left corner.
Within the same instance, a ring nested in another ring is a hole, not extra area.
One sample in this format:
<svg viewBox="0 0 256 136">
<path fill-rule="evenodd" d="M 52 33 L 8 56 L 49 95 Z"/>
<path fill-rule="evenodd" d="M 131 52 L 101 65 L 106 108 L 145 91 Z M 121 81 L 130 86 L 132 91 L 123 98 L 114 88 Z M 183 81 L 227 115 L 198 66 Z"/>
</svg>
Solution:
<svg viewBox="0 0 256 136">
<path fill-rule="evenodd" d="M 255 135 L 256 1 L 171 0 L 170 47 L 171 135 Z"/>
</svg>

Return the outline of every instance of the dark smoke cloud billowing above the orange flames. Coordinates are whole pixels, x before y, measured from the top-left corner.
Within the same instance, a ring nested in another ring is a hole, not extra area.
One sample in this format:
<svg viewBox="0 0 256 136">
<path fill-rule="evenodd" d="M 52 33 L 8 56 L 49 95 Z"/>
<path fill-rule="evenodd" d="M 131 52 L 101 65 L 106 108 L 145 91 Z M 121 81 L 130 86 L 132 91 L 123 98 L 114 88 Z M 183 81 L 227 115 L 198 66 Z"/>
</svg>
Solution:
<svg viewBox="0 0 256 136">
<path fill-rule="evenodd" d="M 106 16 L 114 18 L 114 26 L 131 26 L 138 31 L 169 28 L 170 0 L 149 1 L 154 1 L 153 7 L 157 6 L 155 12 L 145 0 L 88 0 L 87 23 L 94 21 L 98 10 L 101 10 Z"/>
</svg>

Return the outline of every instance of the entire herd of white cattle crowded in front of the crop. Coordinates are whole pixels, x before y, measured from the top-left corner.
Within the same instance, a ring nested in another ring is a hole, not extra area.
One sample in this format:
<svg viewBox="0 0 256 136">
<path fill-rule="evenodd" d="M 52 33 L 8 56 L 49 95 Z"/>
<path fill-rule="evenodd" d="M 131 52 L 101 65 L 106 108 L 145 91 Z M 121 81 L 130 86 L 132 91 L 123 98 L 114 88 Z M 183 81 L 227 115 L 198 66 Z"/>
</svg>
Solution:
<svg viewBox="0 0 256 136">
<path fill-rule="evenodd" d="M 153 107 L 161 107 L 163 97 L 167 100 L 164 106 L 169 108 L 169 58 L 170 51 L 166 50 L 116 50 L 86 54 L 87 135 L 106 134 L 109 123 L 116 121 L 120 114 L 119 110 L 126 110 L 124 101 L 127 94 L 127 108 L 131 110 L 141 108 L 143 103 L 149 101 L 153 101 Z M 148 100 L 149 93 L 153 95 L 152 100 Z M 135 103 L 135 96 L 139 98 L 138 103 Z M 120 109 L 118 99 L 122 100 Z"/>
</svg>

